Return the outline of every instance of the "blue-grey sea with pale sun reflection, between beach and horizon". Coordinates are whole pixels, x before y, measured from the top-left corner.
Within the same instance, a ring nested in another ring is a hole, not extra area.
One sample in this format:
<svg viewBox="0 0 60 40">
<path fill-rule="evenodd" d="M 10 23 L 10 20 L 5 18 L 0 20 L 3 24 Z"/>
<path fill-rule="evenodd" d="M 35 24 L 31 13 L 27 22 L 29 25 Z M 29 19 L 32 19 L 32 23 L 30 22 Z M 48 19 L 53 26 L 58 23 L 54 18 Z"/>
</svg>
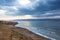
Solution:
<svg viewBox="0 0 60 40">
<path fill-rule="evenodd" d="M 26 28 L 51 40 L 60 40 L 60 19 L 52 20 L 14 20 L 16 27 Z"/>
</svg>

